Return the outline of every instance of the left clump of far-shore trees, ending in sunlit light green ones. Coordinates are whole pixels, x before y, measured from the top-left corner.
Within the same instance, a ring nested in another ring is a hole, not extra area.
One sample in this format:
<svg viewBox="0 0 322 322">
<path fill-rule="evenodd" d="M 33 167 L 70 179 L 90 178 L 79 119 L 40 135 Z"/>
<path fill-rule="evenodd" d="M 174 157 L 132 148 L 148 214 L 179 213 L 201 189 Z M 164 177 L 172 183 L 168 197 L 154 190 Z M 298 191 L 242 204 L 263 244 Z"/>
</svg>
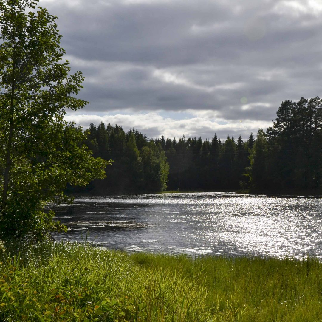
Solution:
<svg viewBox="0 0 322 322">
<path fill-rule="evenodd" d="M 169 165 L 165 152 L 137 130 L 91 123 L 85 144 L 95 157 L 114 162 L 106 169 L 107 178 L 94 180 L 76 192 L 126 194 L 158 192 L 166 189 Z M 73 190 L 73 189 L 72 189 Z M 72 192 L 75 192 L 73 190 Z"/>
</svg>

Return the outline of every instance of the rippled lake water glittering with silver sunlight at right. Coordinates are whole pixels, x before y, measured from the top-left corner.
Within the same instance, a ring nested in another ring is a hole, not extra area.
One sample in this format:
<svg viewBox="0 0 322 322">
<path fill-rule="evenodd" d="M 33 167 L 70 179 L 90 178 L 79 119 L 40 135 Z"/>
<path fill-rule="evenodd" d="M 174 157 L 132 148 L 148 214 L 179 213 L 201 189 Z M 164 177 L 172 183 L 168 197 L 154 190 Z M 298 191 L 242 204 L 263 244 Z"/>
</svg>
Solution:
<svg viewBox="0 0 322 322">
<path fill-rule="evenodd" d="M 125 251 L 322 260 L 321 197 L 180 193 L 78 197 L 50 205 L 56 239 Z"/>
</svg>

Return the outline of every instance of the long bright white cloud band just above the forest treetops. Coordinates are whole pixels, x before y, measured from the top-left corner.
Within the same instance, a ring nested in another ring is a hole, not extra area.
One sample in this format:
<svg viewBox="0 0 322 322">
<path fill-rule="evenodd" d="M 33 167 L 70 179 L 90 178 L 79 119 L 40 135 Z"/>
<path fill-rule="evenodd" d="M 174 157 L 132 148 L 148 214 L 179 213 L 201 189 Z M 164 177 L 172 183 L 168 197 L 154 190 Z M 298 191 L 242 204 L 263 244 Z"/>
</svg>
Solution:
<svg viewBox="0 0 322 322">
<path fill-rule="evenodd" d="M 271 122 L 261 122 L 252 120 L 223 120 L 211 119 L 213 111 L 200 111 L 199 116 L 191 116 L 181 120 L 167 118 L 161 116 L 157 112 L 147 112 L 142 114 L 116 114 L 116 115 L 66 115 L 66 121 L 74 121 L 77 125 L 83 128 L 88 128 L 90 122 L 98 125 L 103 122 L 121 125 L 125 131 L 129 128 L 138 129 L 148 137 L 156 138 L 164 135 L 165 137 L 178 138 L 199 137 L 203 139 L 211 139 L 216 133 L 221 139 L 225 139 L 227 135 L 237 137 L 242 134 L 242 137 L 247 139 L 251 132 L 257 133 L 258 127 L 266 129 L 271 126 Z M 197 113 L 195 113 L 197 114 Z"/>
</svg>

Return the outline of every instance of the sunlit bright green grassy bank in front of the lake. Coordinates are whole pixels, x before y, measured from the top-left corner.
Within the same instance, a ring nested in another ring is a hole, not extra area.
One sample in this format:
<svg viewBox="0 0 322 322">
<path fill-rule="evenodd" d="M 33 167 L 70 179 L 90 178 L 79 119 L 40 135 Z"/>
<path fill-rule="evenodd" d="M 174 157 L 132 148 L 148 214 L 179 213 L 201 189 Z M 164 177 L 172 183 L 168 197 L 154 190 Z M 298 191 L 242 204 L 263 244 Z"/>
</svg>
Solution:
<svg viewBox="0 0 322 322">
<path fill-rule="evenodd" d="M 7 253 L 1 321 L 322 321 L 322 263 L 313 259 L 191 259 L 69 243 Z"/>
</svg>

